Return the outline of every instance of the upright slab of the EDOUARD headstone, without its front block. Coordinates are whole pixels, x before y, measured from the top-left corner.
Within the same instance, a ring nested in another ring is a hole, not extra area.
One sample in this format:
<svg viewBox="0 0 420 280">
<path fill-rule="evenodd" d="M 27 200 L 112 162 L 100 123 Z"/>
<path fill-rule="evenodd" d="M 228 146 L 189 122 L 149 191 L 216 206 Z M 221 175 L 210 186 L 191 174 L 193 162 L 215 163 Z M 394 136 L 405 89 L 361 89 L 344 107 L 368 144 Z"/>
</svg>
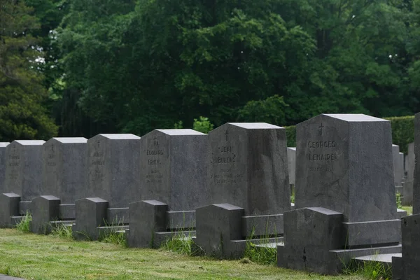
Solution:
<svg viewBox="0 0 420 280">
<path fill-rule="evenodd" d="M 153 130 L 141 137 L 141 200 L 168 204 L 169 211 L 195 210 L 209 202 L 207 134 Z"/>
</svg>

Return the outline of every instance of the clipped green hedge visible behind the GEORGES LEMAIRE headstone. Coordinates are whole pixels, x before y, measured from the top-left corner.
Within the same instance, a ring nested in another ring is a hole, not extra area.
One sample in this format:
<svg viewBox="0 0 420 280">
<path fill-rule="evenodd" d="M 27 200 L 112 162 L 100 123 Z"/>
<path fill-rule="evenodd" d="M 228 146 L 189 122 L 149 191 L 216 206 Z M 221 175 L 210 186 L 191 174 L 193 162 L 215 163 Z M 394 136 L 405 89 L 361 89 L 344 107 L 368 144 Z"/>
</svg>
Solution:
<svg viewBox="0 0 420 280">
<path fill-rule="evenodd" d="M 407 146 L 414 141 L 414 116 L 384 118 L 391 122 L 392 143 L 400 146 L 400 152 L 407 154 Z M 287 146 L 296 146 L 296 127 L 286 128 Z"/>
</svg>

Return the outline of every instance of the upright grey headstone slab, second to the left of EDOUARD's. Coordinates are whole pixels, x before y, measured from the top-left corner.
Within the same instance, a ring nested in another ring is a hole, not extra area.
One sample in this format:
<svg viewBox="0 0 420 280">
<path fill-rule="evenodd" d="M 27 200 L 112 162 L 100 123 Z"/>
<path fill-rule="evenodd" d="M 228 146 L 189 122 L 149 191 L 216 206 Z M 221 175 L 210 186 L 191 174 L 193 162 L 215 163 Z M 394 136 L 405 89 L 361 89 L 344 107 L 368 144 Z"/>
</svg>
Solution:
<svg viewBox="0 0 420 280">
<path fill-rule="evenodd" d="M 43 144 L 43 195 L 59 197 L 62 204 L 86 197 L 87 139 L 52 138 Z"/>
</svg>

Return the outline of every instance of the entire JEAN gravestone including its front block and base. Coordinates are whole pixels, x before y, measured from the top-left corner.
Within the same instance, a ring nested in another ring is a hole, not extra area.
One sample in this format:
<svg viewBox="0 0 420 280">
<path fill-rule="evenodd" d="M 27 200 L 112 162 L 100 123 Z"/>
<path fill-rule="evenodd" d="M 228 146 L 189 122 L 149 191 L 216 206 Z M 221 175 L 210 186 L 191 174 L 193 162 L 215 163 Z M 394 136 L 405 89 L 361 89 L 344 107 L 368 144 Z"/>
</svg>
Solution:
<svg viewBox="0 0 420 280">
<path fill-rule="evenodd" d="M 267 123 L 226 123 L 209 132 L 216 204 L 196 210 L 196 243 L 206 253 L 236 258 L 245 237 L 283 233 L 283 211 L 291 208 L 286 142 L 284 128 Z"/>
</svg>

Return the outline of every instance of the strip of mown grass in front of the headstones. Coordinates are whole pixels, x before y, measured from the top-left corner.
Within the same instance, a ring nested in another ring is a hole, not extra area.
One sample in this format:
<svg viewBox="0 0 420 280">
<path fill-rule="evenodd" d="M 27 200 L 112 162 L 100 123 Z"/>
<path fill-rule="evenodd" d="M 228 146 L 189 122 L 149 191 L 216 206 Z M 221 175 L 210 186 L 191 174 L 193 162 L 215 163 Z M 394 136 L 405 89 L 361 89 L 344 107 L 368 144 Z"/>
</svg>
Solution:
<svg viewBox="0 0 420 280">
<path fill-rule="evenodd" d="M 25 279 L 325 279 L 275 266 L 0 230 L 0 273 Z"/>
</svg>

